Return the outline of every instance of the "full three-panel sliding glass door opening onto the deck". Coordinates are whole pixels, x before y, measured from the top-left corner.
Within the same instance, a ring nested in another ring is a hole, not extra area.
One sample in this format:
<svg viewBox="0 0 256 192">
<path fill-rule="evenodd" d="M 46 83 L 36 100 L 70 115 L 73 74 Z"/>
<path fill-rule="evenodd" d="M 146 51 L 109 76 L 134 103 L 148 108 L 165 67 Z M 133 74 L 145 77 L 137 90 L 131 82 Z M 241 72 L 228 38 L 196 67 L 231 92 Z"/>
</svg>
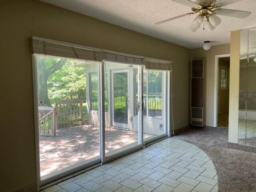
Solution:
<svg viewBox="0 0 256 192">
<path fill-rule="evenodd" d="M 146 70 L 143 58 L 32 43 L 40 185 L 167 135 L 169 72 Z"/>
</svg>

